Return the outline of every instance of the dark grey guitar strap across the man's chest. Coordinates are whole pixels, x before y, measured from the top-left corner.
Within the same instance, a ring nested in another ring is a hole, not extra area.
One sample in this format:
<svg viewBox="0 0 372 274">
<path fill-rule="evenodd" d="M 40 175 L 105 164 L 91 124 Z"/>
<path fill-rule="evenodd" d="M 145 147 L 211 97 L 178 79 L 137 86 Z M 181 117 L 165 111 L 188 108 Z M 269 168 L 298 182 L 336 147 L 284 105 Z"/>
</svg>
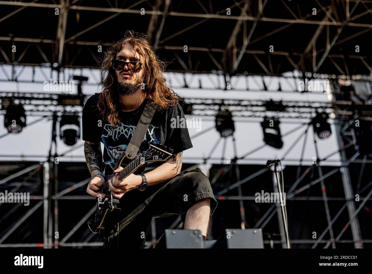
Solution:
<svg viewBox="0 0 372 274">
<path fill-rule="evenodd" d="M 153 119 L 154 113 L 157 110 L 157 105 L 147 101 L 144 110 L 138 124 L 134 130 L 131 141 L 129 141 L 128 147 L 125 150 L 126 158 L 132 160 L 136 157 L 138 149 L 140 148 L 143 139 L 147 133 L 148 126 L 150 126 L 151 120 Z"/>
</svg>

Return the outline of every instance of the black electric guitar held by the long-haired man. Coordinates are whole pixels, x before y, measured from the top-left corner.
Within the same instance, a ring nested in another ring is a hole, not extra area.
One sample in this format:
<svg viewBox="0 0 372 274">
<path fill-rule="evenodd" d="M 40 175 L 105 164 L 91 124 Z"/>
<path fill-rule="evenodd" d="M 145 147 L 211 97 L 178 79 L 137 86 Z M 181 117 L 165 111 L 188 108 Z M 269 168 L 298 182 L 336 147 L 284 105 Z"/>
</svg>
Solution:
<svg viewBox="0 0 372 274">
<path fill-rule="evenodd" d="M 115 169 L 125 166 L 124 169 L 119 173 L 114 173 L 109 180 L 114 176 L 118 176 L 119 180 L 124 180 L 124 178 L 129 174 L 144 169 L 145 164 L 149 162 L 166 162 L 172 156 L 173 149 L 167 148 L 160 143 L 151 143 L 149 149 L 138 154 L 133 160 L 128 160 L 128 158 L 125 157 L 125 153 L 123 153 L 116 163 Z M 93 233 L 99 233 L 100 230 L 105 228 L 105 218 L 110 211 L 120 211 L 119 199 L 112 195 L 109 180 L 104 183 L 100 189 L 100 193 L 105 194 L 105 198 L 97 198 L 97 208 L 94 221 L 88 221 L 88 227 Z"/>
</svg>

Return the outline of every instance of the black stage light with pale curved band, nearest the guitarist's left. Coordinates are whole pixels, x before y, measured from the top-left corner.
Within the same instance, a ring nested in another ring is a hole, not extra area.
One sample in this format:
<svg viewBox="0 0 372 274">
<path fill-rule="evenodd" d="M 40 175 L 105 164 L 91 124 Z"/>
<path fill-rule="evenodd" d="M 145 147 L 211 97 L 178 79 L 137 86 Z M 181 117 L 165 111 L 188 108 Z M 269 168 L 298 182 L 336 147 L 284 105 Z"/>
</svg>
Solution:
<svg viewBox="0 0 372 274">
<path fill-rule="evenodd" d="M 62 115 L 60 121 L 60 138 L 66 145 L 76 144 L 80 138 L 80 119 L 77 115 Z"/>
</svg>

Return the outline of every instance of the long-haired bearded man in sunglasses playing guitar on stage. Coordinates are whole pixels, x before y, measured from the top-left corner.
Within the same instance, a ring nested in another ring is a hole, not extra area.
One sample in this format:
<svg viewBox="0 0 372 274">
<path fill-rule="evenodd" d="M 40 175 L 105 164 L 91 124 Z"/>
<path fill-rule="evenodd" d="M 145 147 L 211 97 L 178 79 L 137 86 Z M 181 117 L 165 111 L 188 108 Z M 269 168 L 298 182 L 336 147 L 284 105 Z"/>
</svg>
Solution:
<svg viewBox="0 0 372 274">
<path fill-rule="evenodd" d="M 105 218 L 103 248 L 142 248 L 152 218 L 171 214 L 181 216 L 184 229 L 200 230 L 206 239 L 217 201 L 208 177 L 199 169 L 180 172 L 182 152 L 192 148 L 192 143 L 187 127 L 171 125 L 172 118 L 185 116 L 179 104 L 182 99 L 166 85 L 165 63 L 144 34 L 127 31 L 106 51 L 101 69 L 102 92 L 92 95 L 83 109 L 84 152 L 92 176 L 87 192 L 100 197 L 106 179 L 123 169 L 113 170 L 148 102 L 156 111 L 140 151 L 148 149 L 150 142 L 159 142 L 174 153 L 167 162 L 148 168 L 144 176 L 132 173 L 123 180 L 117 176 L 109 180 L 121 211 Z M 140 191 L 144 178 L 148 187 Z M 128 221 L 123 224 L 124 218 Z"/>
</svg>

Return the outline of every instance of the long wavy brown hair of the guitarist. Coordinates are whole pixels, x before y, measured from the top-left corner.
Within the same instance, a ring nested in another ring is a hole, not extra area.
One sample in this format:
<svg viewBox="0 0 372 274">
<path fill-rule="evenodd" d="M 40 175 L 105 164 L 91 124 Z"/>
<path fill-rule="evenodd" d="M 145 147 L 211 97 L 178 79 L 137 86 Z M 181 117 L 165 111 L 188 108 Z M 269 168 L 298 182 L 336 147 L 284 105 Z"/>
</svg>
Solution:
<svg viewBox="0 0 372 274">
<path fill-rule="evenodd" d="M 103 57 L 101 65 L 102 75 L 102 92 L 99 94 L 98 110 L 102 117 L 113 126 L 119 122 L 119 94 L 113 90 L 113 87 L 118 82 L 115 70 L 112 68 L 112 59 L 116 58 L 125 44 L 129 43 L 134 48 L 134 51 L 140 54 L 143 58 L 141 69 L 144 70 L 143 79 L 138 84 L 138 88 L 145 84 L 146 97 L 160 108 L 167 109 L 178 104 L 181 97 L 176 94 L 173 89 L 166 85 L 163 72 L 166 68 L 166 63 L 159 60 L 154 52 L 154 48 L 147 40 L 147 36 L 134 31 L 126 31 L 124 37 L 110 47 Z"/>
</svg>

